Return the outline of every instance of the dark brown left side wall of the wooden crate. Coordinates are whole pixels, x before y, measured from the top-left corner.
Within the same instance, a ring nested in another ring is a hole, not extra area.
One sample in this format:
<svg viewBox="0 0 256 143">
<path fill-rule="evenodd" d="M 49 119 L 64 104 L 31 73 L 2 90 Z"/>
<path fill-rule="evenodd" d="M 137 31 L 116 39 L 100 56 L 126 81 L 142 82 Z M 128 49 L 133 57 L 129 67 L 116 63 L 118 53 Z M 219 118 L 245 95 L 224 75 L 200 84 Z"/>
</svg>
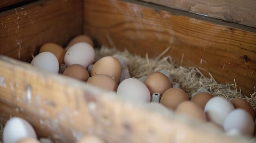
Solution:
<svg viewBox="0 0 256 143">
<path fill-rule="evenodd" d="M 82 0 L 40 0 L 0 13 L 0 54 L 30 62 L 46 42 L 82 33 Z"/>
</svg>

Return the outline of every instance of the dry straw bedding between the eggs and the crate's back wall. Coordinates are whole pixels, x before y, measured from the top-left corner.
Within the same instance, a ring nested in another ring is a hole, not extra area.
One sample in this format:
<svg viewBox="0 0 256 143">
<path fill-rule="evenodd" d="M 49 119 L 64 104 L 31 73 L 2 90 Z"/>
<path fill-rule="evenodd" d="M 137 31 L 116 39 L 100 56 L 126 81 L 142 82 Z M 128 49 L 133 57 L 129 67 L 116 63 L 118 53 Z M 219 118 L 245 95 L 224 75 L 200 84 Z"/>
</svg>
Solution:
<svg viewBox="0 0 256 143">
<path fill-rule="evenodd" d="M 148 57 L 148 54 L 146 54 L 146 57 L 141 57 L 129 53 L 128 50 L 118 51 L 115 48 L 108 48 L 107 46 L 102 46 L 100 49 L 97 49 L 96 53 L 97 59 L 115 54 L 129 59 L 127 64 L 130 70 L 130 75 L 137 79 L 144 75 L 148 76 L 150 73 L 165 69 L 171 74 L 173 81 L 180 84 L 180 88 L 186 91 L 190 97 L 192 93 L 196 92 L 200 87 L 205 87 L 213 94 L 213 96 L 225 97 L 228 100 L 235 97 L 243 98 L 251 104 L 254 110 L 256 110 L 255 88 L 254 92 L 250 94 L 251 97 L 247 97 L 241 92 L 241 89 L 238 89 L 236 79 L 234 79 L 235 84 L 218 83 L 211 73 L 204 68 L 180 66 L 171 58 L 171 56 L 164 57 L 164 54 L 168 50 L 170 50 L 170 47 L 166 48 L 166 50 L 159 54 L 155 59 Z M 206 71 L 210 78 L 205 77 L 200 70 Z"/>
</svg>

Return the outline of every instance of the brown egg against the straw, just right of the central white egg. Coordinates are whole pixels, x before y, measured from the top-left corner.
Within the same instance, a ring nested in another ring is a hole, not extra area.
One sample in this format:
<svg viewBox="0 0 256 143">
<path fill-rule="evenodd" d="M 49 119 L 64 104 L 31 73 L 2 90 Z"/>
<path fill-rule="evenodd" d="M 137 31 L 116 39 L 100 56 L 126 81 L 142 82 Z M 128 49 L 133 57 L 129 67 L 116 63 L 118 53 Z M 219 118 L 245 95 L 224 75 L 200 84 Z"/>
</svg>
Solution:
<svg viewBox="0 0 256 143">
<path fill-rule="evenodd" d="M 172 88 L 171 81 L 166 75 L 160 72 L 155 72 L 148 75 L 144 81 L 144 84 L 148 87 L 151 96 L 155 92 L 163 95 L 167 89 Z"/>
</svg>

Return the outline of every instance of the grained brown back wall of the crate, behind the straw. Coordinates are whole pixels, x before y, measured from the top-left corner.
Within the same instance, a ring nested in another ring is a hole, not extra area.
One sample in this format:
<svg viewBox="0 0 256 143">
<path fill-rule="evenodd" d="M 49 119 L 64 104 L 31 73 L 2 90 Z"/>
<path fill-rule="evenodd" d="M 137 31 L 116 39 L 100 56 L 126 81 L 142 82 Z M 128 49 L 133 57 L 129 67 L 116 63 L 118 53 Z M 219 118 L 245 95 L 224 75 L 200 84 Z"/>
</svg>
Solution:
<svg viewBox="0 0 256 143">
<path fill-rule="evenodd" d="M 254 92 L 256 33 L 172 14 L 167 8 L 153 9 L 143 2 L 84 1 L 84 31 L 100 44 L 151 58 L 171 46 L 166 55 L 180 64 L 204 68 L 224 84 L 235 80 L 247 95 Z"/>
</svg>

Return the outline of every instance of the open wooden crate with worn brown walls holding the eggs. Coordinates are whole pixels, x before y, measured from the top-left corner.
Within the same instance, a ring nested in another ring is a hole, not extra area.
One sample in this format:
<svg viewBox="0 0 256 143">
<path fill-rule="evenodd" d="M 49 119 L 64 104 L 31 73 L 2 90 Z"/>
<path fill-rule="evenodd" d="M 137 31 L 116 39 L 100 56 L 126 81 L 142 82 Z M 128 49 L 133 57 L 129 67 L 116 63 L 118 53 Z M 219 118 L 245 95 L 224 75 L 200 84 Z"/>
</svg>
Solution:
<svg viewBox="0 0 256 143">
<path fill-rule="evenodd" d="M 243 143 L 24 62 L 31 61 L 46 42 L 64 47 L 85 33 L 97 45 L 127 48 L 142 56 L 147 52 L 155 57 L 171 46 L 166 55 L 180 64 L 204 68 L 223 83 L 235 79 L 249 95 L 256 85 L 255 32 L 136 0 L 39 0 L 4 11 L 0 13 L 0 119 L 5 123 L 10 116 L 24 117 L 38 136 L 52 134 L 65 143 L 84 134 L 97 134 L 110 143 Z"/>
</svg>

